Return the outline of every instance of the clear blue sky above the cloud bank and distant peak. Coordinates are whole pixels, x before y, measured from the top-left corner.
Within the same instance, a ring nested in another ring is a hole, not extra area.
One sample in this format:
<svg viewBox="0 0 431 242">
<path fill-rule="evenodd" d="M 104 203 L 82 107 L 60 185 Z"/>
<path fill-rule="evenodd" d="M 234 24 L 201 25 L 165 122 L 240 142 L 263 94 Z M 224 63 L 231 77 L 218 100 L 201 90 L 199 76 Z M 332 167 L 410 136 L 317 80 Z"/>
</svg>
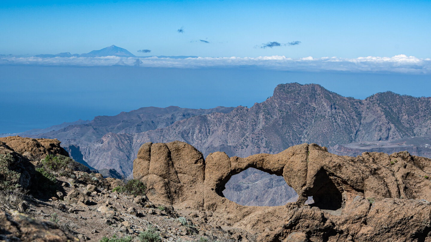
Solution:
<svg viewBox="0 0 431 242">
<path fill-rule="evenodd" d="M 56 2 L 2 1 L 0 54 L 431 57 L 429 0 Z M 301 43 L 260 48 L 274 41 Z"/>
</svg>

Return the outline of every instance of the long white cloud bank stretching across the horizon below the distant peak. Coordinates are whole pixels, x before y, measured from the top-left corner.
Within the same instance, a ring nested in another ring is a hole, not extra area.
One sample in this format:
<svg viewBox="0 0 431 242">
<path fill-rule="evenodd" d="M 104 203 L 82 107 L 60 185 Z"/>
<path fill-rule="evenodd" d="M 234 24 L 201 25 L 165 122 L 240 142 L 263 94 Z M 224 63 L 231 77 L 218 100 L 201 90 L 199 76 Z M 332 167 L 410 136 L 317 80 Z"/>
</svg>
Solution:
<svg viewBox="0 0 431 242">
<path fill-rule="evenodd" d="M 137 58 L 137 57 L 2 57 L 0 65 L 58 65 L 58 66 L 140 66 L 167 68 L 202 68 L 250 66 L 285 71 L 350 71 L 395 72 L 431 74 L 431 59 L 397 55 L 393 57 L 337 58 L 287 58 L 286 56 L 251 57 L 197 57 L 186 59 Z"/>
</svg>

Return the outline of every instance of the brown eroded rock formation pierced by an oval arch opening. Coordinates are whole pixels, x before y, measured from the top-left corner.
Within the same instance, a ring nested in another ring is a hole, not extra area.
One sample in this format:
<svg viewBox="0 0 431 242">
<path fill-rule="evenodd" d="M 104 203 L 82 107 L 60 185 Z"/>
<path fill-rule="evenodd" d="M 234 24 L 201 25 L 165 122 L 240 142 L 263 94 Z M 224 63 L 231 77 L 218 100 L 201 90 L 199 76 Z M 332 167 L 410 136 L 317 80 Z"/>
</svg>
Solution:
<svg viewBox="0 0 431 242">
<path fill-rule="evenodd" d="M 247 158 L 201 152 L 184 142 L 145 143 L 133 176 L 159 204 L 194 209 L 219 226 L 259 241 L 425 241 L 430 239 L 431 159 L 408 152 L 328 153 L 316 144 Z M 242 206 L 223 197 L 231 176 L 247 168 L 283 176 L 299 198 L 283 206 Z M 305 205 L 308 196 L 314 204 Z"/>
</svg>

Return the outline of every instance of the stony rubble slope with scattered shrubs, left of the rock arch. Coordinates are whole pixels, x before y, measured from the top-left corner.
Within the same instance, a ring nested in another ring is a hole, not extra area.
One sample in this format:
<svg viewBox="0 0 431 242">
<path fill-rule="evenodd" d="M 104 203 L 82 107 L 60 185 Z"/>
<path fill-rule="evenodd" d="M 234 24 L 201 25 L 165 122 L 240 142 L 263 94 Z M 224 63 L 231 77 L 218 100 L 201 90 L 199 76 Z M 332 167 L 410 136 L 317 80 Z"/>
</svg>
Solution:
<svg viewBox="0 0 431 242">
<path fill-rule="evenodd" d="M 121 191 L 128 183 L 103 178 L 88 168 L 80 171 L 82 165 L 71 159 L 66 167 L 51 170 L 44 163 L 49 155 L 67 155 L 59 144 L 49 139 L 1 139 L 0 161 L 7 154 L 13 159 L 9 167 L 0 166 L 0 241 L 78 242 L 116 236 L 141 241 L 143 233 L 160 241 L 228 242 L 241 236 L 256 241 L 246 231 L 206 223 L 207 217 L 199 211 L 154 204 L 144 193 Z M 4 175 L 10 173 L 4 173 L 5 168 L 19 174 L 19 189 L 6 192 L 3 185 L 9 183 L 4 183 Z M 37 176 L 40 168 L 55 176 L 53 186 Z"/>
</svg>

